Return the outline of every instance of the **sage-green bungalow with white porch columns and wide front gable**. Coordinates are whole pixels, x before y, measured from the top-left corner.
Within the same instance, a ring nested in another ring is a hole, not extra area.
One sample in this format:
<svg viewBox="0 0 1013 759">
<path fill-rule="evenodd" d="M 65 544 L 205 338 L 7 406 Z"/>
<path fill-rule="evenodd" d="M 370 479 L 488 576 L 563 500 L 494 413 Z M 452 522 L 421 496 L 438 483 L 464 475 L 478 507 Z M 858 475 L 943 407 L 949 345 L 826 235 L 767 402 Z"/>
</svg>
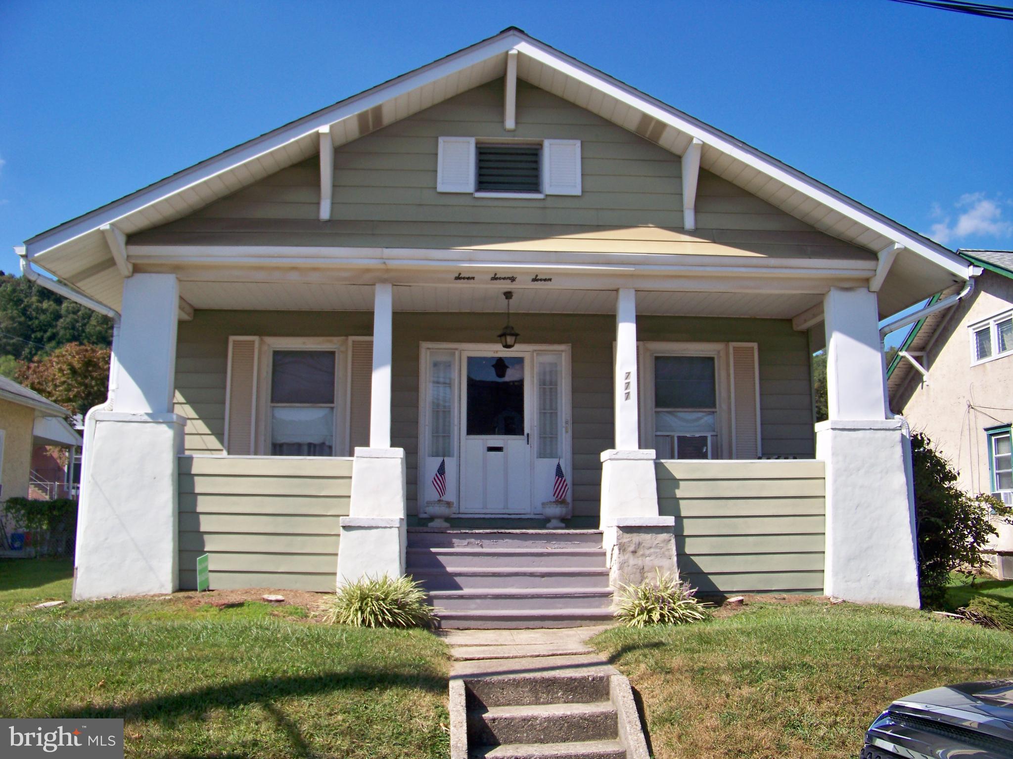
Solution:
<svg viewBox="0 0 1013 759">
<path fill-rule="evenodd" d="M 443 463 L 452 524 L 500 537 L 544 525 L 558 467 L 601 530 L 558 539 L 601 566 L 497 574 L 527 550 L 454 533 L 441 603 L 562 619 L 552 578 L 677 554 L 709 592 L 918 603 L 877 323 L 967 262 L 516 28 L 21 252 L 115 320 L 78 598 L 192 588 L 204 553 L 215 587 L 404 572 Z"/>
</svg>

